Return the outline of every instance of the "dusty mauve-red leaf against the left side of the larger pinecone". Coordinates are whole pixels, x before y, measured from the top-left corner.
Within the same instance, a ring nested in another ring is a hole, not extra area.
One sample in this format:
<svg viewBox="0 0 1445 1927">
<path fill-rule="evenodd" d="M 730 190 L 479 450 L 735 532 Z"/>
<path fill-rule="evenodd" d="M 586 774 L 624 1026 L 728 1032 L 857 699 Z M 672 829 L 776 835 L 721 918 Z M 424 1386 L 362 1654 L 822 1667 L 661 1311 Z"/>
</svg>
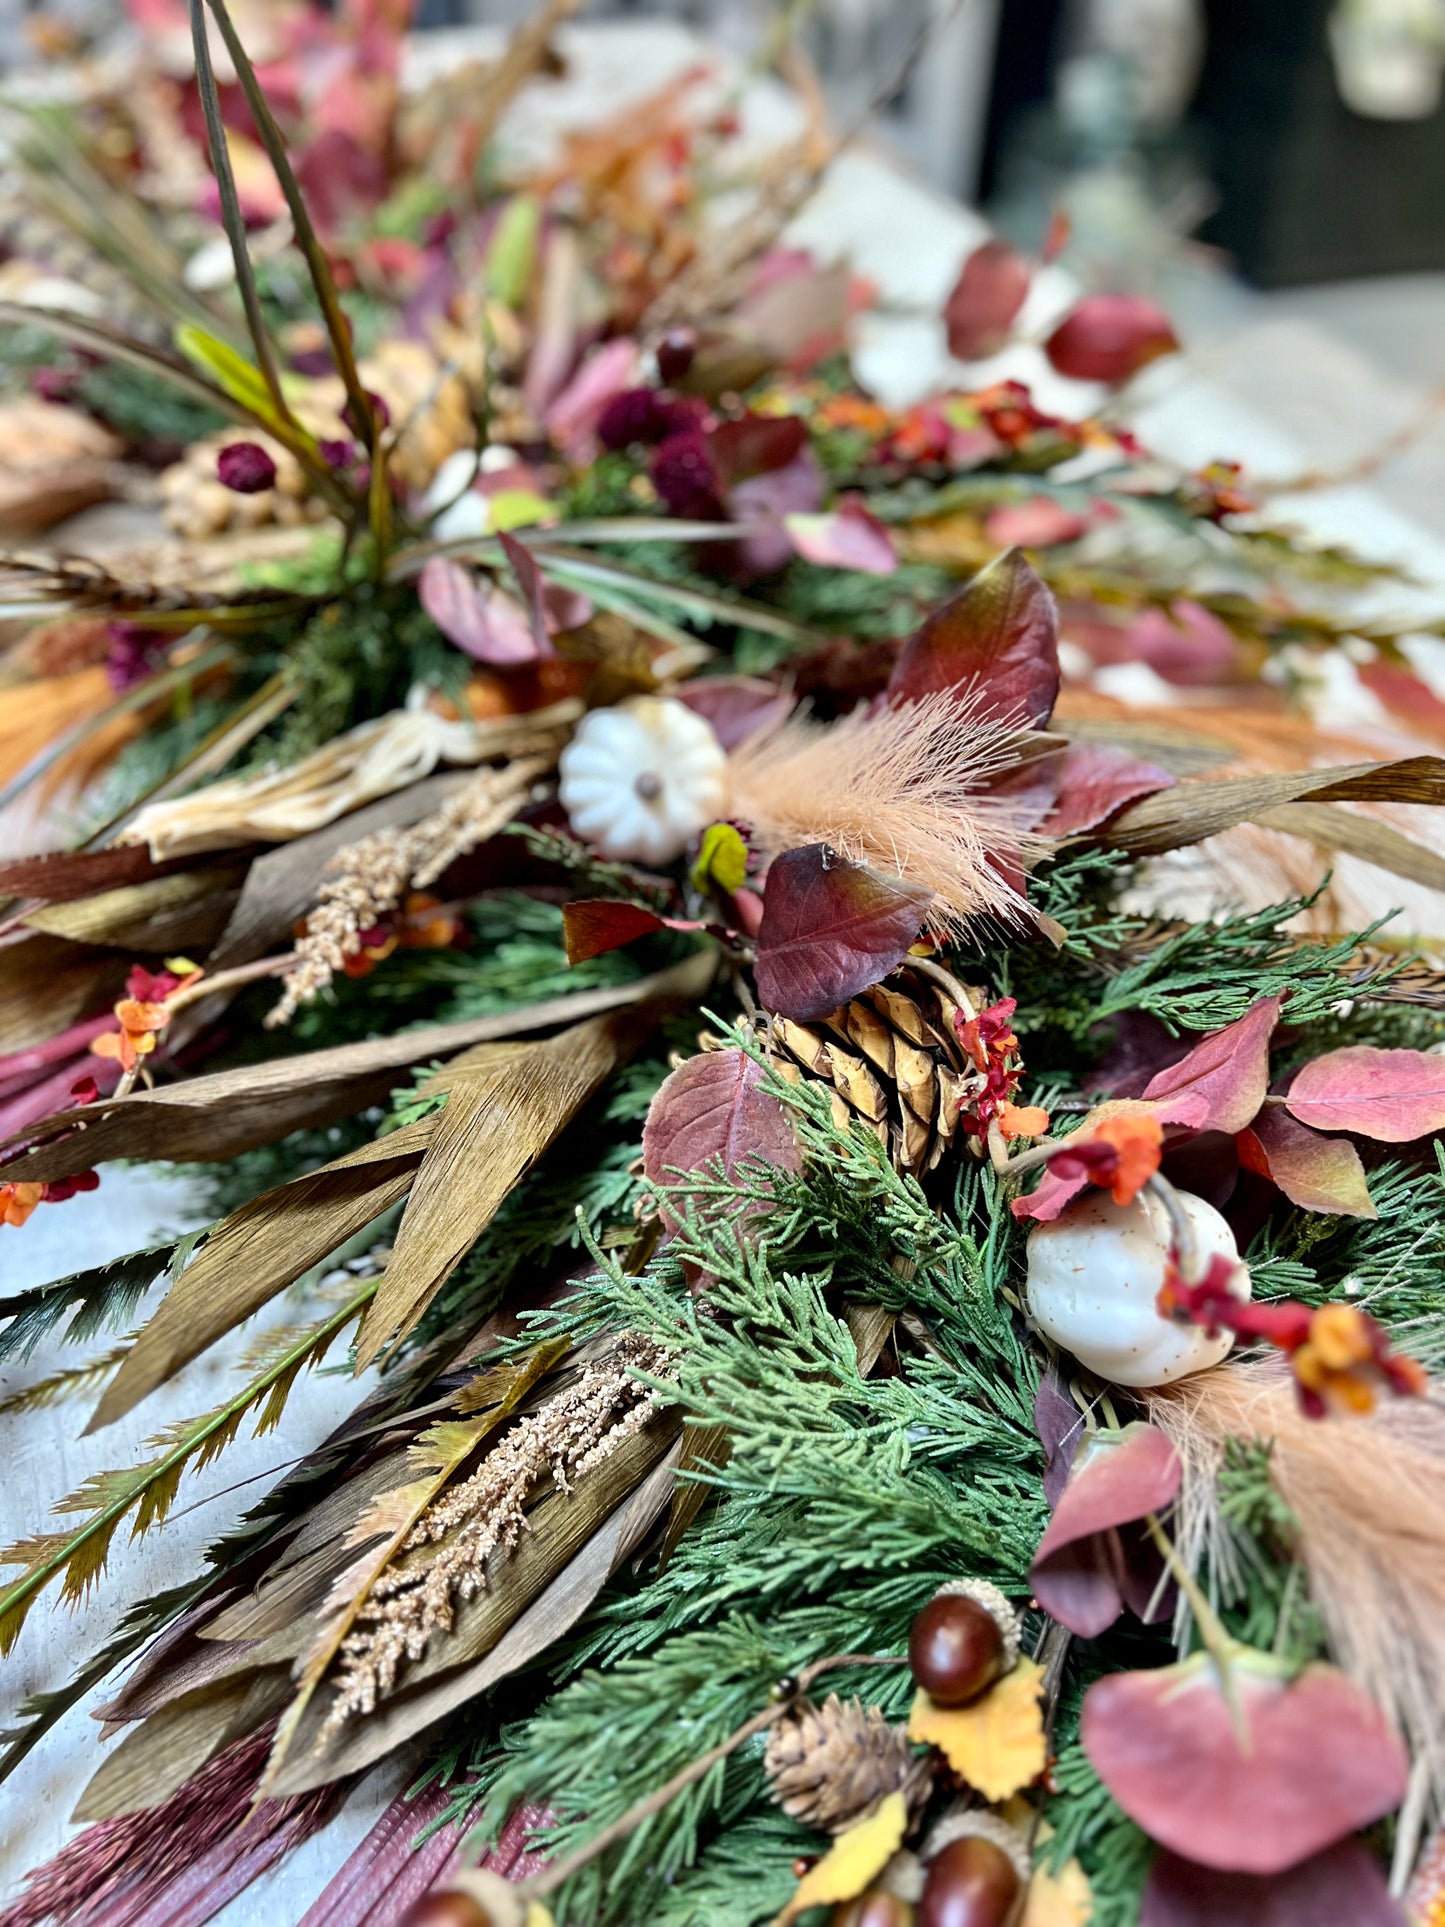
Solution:
<svg viewBox="0 0 1445 1927">
<path fill-rule="evenodd" d="M 713 1158 L 728 1175 L 744 1158 L 784 1172 L 801 1162 L 788 1116 L 763 1091 L 763 1069 L 746 1050 L 688 1058 L 659 1087 L 642 1127 L 642 1168 L 653 1185 L 676 1183 L 678 1172 L 697 1172 Z"/>
</svg>

